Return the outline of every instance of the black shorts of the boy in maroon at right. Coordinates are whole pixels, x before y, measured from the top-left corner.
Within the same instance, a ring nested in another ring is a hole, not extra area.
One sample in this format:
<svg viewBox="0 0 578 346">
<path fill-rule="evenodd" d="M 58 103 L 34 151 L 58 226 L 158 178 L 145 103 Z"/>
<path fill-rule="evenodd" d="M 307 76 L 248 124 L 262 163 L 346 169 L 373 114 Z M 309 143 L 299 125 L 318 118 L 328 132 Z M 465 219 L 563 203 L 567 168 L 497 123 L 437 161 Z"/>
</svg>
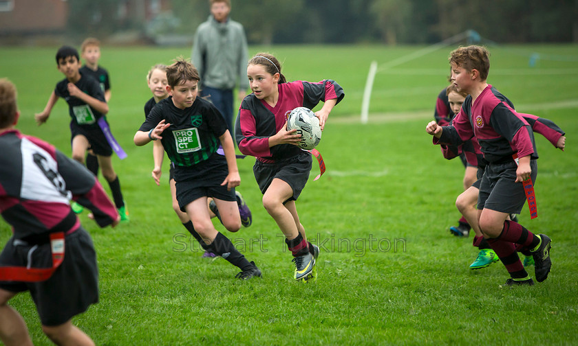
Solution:
<svg viewBox="0 0 578 346">
<path fill-rule="evenodd" d="M 530 161 L 530 168 L 532 170 L 530 176 L 535 183 L 538 174 L 536 160 Z M 486 165 L 478 194 L 478 209 L 487 208 L 507 214 L 520 214 L 526 203 L 526 192 L 522 183 L 514 183 L 516 169 L 514 161 Z"/>
</svg>

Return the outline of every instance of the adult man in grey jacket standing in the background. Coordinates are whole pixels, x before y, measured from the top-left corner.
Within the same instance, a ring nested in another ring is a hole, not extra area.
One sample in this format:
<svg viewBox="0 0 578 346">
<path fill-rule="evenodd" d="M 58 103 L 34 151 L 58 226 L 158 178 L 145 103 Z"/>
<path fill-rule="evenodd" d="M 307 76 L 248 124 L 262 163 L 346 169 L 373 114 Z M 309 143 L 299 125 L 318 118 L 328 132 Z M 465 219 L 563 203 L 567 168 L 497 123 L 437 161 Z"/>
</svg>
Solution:
<svg viewBox="0 0 578 346">
<path fill-rule="evenodd" d="M 233 132 L 233 89 L 243 100 L 247 80 L 247 39 L 241 23 L 229 18 L 230 0 L 210 0 L 211 15 L 195 33 L 192 61 L 201 76 L 202 97 L 208 96 Z M 238 82 L 237 82 L 238 81 Z"/>
</svg>

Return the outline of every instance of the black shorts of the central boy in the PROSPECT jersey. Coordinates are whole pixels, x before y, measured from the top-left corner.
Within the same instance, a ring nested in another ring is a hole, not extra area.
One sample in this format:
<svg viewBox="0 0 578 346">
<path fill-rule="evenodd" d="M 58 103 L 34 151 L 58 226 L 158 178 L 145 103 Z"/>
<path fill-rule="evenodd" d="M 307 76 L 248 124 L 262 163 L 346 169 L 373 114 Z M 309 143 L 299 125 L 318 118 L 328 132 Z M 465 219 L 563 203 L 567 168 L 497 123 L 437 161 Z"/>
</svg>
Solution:
<svg viewBox="0 0 578 346">
<path fill-rule="evenodd" d="M 224 156 L 216 153 L 192 167 L 176 165 L 173 176 L 181 211 L 185 212 L 186 205 L 205 196 L 220 200 L 237 200 L 235 189 L 227 191 L 226 185 L 221 186 L 227 175 L 227 161 Z"/>
</svg>

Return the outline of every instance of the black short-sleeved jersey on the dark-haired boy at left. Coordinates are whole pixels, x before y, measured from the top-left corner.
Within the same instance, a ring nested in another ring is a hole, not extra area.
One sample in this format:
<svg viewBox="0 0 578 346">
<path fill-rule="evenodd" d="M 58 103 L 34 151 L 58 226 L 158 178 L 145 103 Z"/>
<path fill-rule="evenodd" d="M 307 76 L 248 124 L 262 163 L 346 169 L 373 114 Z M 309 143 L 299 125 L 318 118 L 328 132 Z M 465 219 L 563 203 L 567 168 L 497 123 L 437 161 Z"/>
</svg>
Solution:
<svg viewBox="0 0 578 346">
<path fill-rule="evenodd" d="M 54 93 L 58 97 L 62 97 L 68 103 L 68 112 L 72 118 L 71 124 L 76 124 L 79 126 L 85 126 L 88 128 L 98 128 L 96 121 L 103 117 L 103 113 L 96 111 L 96 109 L 89 106 L 83 100 L 71 96 L 68 92 L 68 80 L 63 79 L 56 84 Z M 83 93 L 90 95 L 96 100 L 105 101 L 105 93 L 100 89 L 100 85 L 93 78 L 81 76 L 78 82 L 74 83 L 78 89 L 81 89 Z"/>
</svg>

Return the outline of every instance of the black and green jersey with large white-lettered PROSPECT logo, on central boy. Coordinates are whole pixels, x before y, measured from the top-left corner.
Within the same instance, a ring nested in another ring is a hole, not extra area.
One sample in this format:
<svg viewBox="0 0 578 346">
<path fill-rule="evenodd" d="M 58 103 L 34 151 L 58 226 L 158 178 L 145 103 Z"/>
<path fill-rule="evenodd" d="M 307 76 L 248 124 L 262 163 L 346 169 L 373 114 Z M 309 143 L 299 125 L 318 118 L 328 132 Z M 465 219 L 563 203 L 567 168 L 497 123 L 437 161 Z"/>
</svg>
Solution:
<svg viewBox="0 0 578 346">
<path fill-rule="evenodd" d="M 162 146 L 171 162 L 182 167 L 191 167 L 211 157 L 219 148 L 219 137 L 227 130 L 217 108 L 200 97 L 185 109 L 177 108 L 173 97 L 167 97 L 151 109 L 139 130 L 149 132 L 163 119 L 171 126 L 161 134 Z"/>
</svg>

